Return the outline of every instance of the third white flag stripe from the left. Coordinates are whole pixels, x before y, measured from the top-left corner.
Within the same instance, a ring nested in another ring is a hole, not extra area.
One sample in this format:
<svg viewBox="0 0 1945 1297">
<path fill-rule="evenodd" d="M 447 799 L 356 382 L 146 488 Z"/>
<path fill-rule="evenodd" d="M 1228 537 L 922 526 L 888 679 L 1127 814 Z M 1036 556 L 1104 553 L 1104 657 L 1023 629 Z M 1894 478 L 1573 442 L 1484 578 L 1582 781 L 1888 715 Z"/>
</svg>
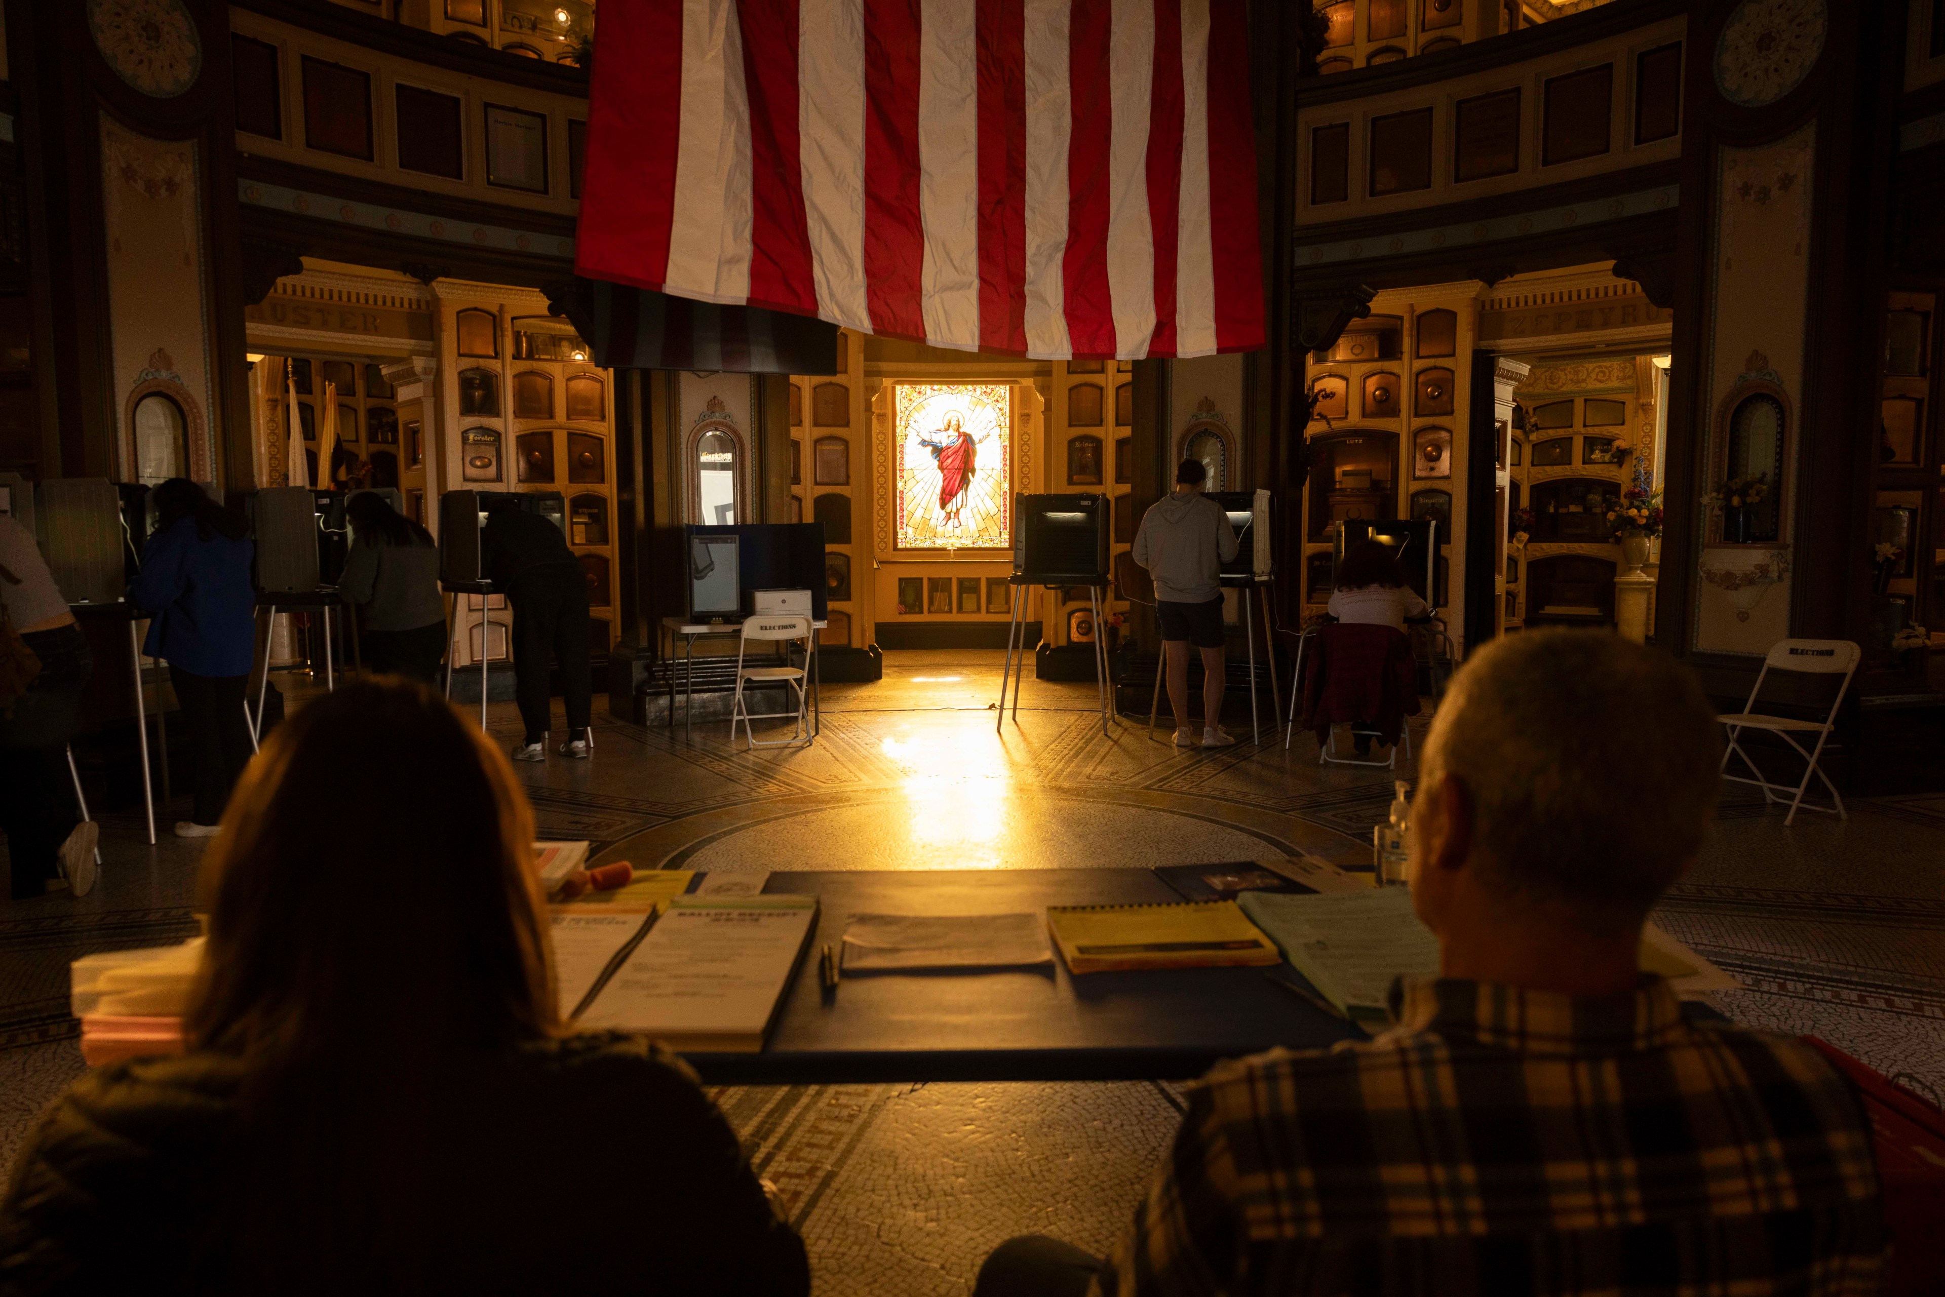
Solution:
<svg viewBox="0 0 1945 1297">
<path fill-rule="evenodd" d="M 967 0 L 918 6 L 918 214 L 926 342 L 978 350 L 978 27 Z"/>
</svg>

